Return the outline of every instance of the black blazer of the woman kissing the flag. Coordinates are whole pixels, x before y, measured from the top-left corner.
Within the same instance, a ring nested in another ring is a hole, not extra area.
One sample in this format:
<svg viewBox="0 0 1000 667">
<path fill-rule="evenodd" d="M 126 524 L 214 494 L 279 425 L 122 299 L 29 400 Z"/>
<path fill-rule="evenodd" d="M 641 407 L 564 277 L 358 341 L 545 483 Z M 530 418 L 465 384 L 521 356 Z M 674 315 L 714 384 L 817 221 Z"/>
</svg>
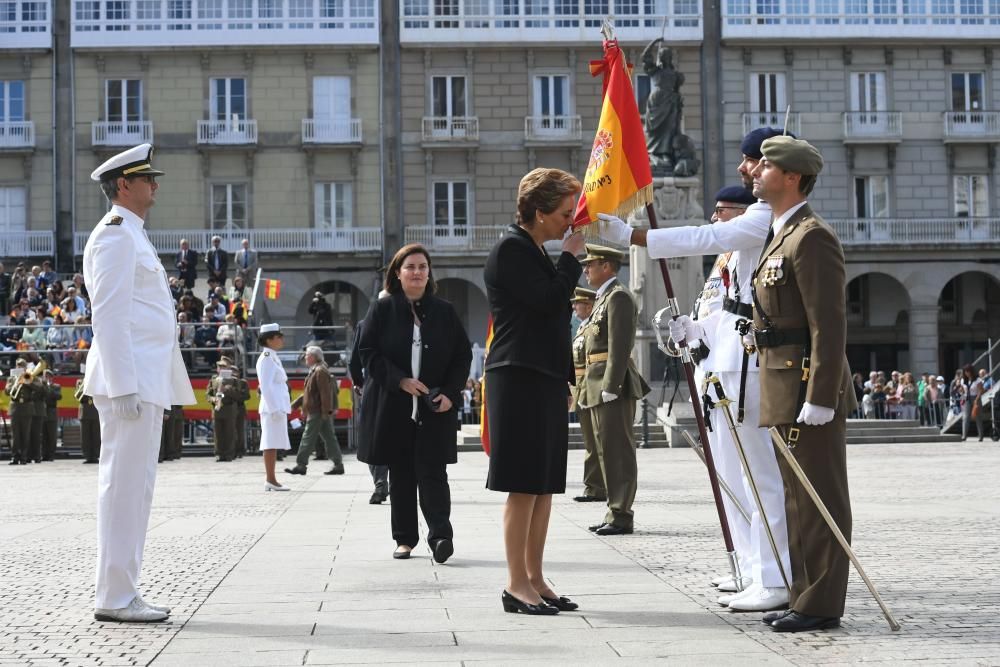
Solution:
<svg viewBox="0 0 1000 667">
<path fill-rule="evenodd" d="M 575 381 L 570 350 L 570 298 L 583 267 L 564 252 L 555 265 L 517 225 L 507 228 L 486 260 L 493 342 L 486 370 L 522 366 Z"/>
</svg>

